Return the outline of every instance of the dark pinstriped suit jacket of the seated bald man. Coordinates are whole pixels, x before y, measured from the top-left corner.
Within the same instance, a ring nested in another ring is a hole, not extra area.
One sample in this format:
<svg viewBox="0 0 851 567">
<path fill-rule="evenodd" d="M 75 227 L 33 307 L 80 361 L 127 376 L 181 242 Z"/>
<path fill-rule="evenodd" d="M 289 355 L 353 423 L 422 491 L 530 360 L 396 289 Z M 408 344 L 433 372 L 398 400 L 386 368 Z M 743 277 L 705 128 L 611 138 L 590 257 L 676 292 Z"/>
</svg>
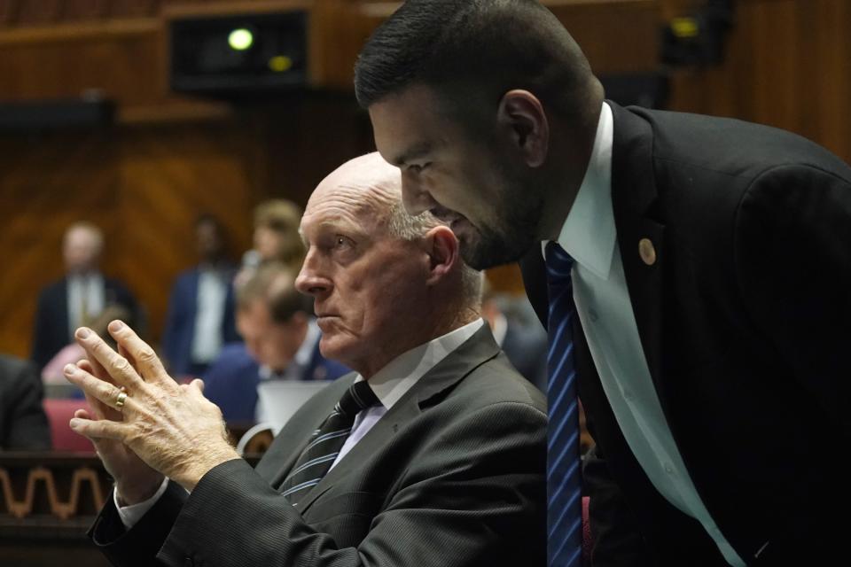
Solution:
<svg viewBox="0 0 851 567">
<path fill-rule="evenodd" d="M 508 366 L 487 325 L 294 509 L 277 487 L 352 379 L 309 400 L 256 470 L 225 462 L 188 500 L 171 485 L 123 535 L 107 505 L 95 541 L 117 565 L 150 564 L 158 550 L 168 565 L 544 564 L 543 396 Z"/>
</svg>

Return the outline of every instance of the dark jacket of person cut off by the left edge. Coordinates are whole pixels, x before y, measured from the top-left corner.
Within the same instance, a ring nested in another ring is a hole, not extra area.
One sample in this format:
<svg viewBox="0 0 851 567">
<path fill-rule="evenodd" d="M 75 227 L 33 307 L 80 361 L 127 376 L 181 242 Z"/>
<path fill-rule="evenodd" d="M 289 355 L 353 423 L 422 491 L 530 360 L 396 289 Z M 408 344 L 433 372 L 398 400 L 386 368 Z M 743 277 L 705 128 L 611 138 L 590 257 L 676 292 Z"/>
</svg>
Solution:
<svg viewBox="0 0 851 567">
<path fill-rule="evenodd" d="M 0 451 L 51 448 L 42 397 L 33 365 L 0 354 Z"/>
</svg>

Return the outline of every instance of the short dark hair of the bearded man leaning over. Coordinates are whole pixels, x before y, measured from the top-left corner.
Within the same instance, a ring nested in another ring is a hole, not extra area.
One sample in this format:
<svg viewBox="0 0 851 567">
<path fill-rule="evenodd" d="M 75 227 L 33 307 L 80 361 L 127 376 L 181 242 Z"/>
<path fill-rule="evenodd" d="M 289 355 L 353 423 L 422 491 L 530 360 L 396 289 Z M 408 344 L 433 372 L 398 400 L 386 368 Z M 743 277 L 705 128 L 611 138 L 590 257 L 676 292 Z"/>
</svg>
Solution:
<svg viewBox="0 0 851 567">
<path fill-rule="evenodd" d="M 535 0 L 407 0 L 363 47 L 355 95 L 368 108 L 418 83 L 489 105 L 528 89 L 570 116 L 586 112 L 577 103 L 588 101 L 596 79 L 565 27 Z"/>
</svg>

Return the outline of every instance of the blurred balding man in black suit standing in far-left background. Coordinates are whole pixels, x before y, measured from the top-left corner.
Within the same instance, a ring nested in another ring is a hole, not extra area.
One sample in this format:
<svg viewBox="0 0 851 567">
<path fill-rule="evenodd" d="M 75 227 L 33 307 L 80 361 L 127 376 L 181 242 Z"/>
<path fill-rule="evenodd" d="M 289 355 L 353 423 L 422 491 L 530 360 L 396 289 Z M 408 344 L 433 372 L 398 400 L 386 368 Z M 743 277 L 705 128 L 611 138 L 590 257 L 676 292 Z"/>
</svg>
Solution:
<svg viewBox="0 0 851 567">
<path fill-rule="evenodd" d="M 35 311 L 31 358 L 39 369 L 74 340 L 77 327 L 90 324 L 108 305 L 126 307 L 138 321 L 133 294 L 100 272 L 103 248 L 104 235 L 90 222 L 75 222 L 66 229 L 62 241 L 66 276 L 43 289 Z"/>
</svg>

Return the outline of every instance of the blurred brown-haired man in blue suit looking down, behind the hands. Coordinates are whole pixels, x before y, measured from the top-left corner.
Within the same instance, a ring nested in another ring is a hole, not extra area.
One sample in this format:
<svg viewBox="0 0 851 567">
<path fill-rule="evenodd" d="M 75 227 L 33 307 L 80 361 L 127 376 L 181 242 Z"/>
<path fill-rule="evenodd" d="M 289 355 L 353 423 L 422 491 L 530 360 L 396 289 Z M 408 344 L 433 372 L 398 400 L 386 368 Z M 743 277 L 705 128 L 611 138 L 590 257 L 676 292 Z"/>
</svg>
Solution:
<svg viewBox="0 0 851 567">
<path fill-rule="evenodd" d="M 204 374 L 204 395 L 228 423 L 263 423 L 258 394 L 270 380 L 335 380 L 349 370 L 319 351 L 322 331 L 310 299 L 295 289 L 291 268 L 264 264 L 237 291 L 237 325 L 245 342 L 224 346 Z"/>
</svg>

